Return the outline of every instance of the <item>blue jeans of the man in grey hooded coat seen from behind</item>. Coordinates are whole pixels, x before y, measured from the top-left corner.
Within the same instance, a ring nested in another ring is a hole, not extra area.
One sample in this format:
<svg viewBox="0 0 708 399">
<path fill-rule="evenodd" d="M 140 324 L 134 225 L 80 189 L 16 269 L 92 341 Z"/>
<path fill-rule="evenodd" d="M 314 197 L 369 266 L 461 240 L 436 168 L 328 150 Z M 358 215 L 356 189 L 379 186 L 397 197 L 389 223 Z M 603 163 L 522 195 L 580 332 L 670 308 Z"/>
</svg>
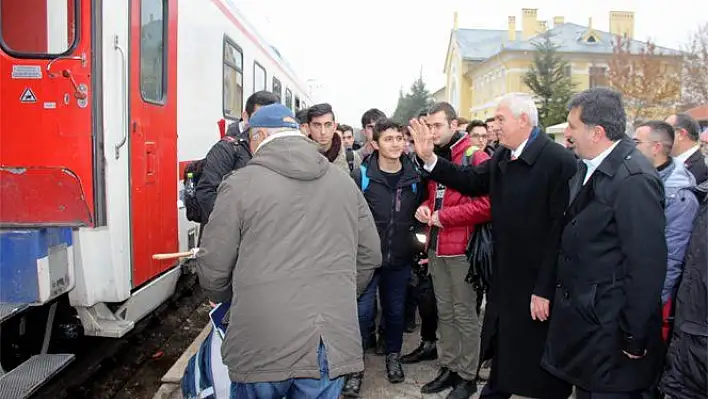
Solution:
<svg viewBox="0 0 708 399">
<path fill-rule="evenodd" d="M 329 379 L 324 343 L 317 349 L 319 379 L 291 378 L 280 382 L 231 383 L 231 399 L 337 399 L 344 387 L 344 377 Z"/>
</svg>

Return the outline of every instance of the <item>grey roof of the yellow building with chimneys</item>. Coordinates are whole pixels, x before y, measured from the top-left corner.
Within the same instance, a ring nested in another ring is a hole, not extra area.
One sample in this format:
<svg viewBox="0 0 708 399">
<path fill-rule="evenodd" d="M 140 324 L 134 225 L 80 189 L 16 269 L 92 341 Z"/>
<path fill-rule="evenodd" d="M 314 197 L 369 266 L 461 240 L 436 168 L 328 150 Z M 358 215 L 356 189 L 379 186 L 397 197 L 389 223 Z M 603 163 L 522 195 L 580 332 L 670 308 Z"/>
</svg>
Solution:
<svg viewBox="0 0 708 399">
<path fill-rule="evenodd" d="M 596 39 L 594 43 L 585 40 L 590 32 Z M 612 54 L 613 52 L 614 36 L 609 32 L 566 22 L 549 29 L 547 33 L 551 35 L 551 40 L 559 46 L 558 51 L 562 53 Z M 542 40 L 543 36 L 539 34 L 524 40 L 523 33 L 517 30 L 516 40 L 511 41 L 507 30 L 490 29 L 457 29 L 453 31 L 453 35 L 462 58 L 469 61 L 486 60 L 502 50 L 535 51 L 534 43 Z M 639 40 L 632 40 L 630 49 L 632 52 L 637 52 L 644 44 Z M 657 46 L 657 52 L 664 55 L 681 55 L 680 51 L 660 46 Z"/>
</svg>

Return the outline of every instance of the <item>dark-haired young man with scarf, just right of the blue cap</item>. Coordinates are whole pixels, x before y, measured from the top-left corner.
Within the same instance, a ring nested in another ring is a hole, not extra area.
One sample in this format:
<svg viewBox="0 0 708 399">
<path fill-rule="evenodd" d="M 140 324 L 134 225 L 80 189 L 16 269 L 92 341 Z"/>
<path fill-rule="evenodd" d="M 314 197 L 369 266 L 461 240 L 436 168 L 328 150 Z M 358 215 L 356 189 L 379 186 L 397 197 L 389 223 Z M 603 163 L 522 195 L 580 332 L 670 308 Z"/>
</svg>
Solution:
<svg viewBox="0 0 708 399">
<path fill-rule="evenodd" d="M 320 145 L 322 155 L 347 174 L 351 173 L 342 137 L 334 133 L 337 130 L 337 122 L 334 120 L 334 111 L 332 111 L 331 105 L 317 104 L 307 110 L 307 130 L 310 133 L 310 138 Z M 361 164 L 361 158 L 356 153 L 353 155 L 353 169 L 355 169 Z"/>
</svg>

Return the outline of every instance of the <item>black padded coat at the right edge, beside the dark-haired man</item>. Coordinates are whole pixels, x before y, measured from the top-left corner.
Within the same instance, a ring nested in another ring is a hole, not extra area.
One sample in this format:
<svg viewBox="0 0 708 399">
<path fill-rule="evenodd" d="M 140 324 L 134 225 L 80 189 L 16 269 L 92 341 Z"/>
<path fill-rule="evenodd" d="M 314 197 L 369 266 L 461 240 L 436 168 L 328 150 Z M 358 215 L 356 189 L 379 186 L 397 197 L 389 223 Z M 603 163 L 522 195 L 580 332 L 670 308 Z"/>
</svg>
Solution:
<svg viewBox="0 0 708 399">
<path fill-rule="evenodd" d="M 702 192 L 708 191 L 708 181 Z M 705 196 L 705 195 L 704 195 Z M 676 296 L 676 318 L 661 391 L 676 399 L 708 397 L 708 199 L 693 224 Z"/>
</svg>

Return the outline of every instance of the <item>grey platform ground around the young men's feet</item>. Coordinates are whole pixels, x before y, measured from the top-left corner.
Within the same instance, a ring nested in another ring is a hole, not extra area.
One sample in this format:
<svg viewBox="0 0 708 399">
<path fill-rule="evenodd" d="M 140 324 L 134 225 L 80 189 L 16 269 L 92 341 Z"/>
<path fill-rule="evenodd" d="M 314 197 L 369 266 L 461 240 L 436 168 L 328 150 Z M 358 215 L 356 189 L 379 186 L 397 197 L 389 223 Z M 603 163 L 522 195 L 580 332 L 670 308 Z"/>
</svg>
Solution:
<svg viewBox="0 0 708 399">
<path fill-rule="evenodd" d="M 403 354 L 411 352 L 418 347 L 420 334 L 418 331 L 403 335 Z M 363 399 L 403 399 L 403 398 L 426 398 L 444 399 L 450 390 L 436 395 L 423 395 L 420 387 L 432 381 L 438 373 L 437 361 L 422 362 L 418 364 L 404 364 L 403 370 L 406 380 L 400 384 L 391 384 L 386 379 L 386 366 L 384 356 L 376 356 L 373 353 L 366 353 L 364 362 L 366 373 L 364 375 L 364 386 L 362 387 Z M 479 386 L 477 392 L 482 390 Z M 477 398 L 475 395 L 474 398 Z"/>
</svg>

